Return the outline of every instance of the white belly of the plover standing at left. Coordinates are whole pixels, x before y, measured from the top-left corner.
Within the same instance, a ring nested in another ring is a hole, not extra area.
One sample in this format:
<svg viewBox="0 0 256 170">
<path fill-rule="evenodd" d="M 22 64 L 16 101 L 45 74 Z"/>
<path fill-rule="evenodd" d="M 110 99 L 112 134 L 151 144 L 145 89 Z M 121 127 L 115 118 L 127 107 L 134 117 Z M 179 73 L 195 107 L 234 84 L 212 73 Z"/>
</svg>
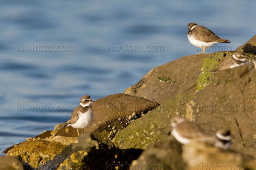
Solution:
<svg viewBox="0 0 256 170">
<path fill-rule="evenodd" d="M 93 122 L 93 112 L 91 110 L 87 111 L 86 113 L 78 113 L 79 119 L 76 123 L 72 124 L 71 126 L 74 128 L 84 128 L 88 127 Z"/>
</svg>

